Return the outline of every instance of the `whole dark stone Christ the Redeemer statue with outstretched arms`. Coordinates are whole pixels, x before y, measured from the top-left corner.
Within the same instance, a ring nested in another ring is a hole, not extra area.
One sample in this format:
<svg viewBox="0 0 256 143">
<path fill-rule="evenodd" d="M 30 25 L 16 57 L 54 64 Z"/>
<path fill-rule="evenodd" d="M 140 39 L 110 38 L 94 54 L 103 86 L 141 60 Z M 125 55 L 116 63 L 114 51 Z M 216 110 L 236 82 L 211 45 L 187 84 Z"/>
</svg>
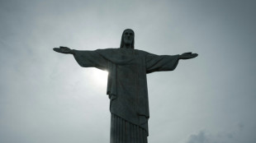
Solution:
<svg viewBox="0 0 256 143">
<path fill-rule="evenodd" d="M 197 53 L 156 55 L 135 49 L 135 33 L 124 30 L 120 48 L 80 51 L 54 48 L 70 53 L 81 67 L 108 71 L 107 95 L 110 99 L 111 143 L 147 143 L 149 136 L 149 98 L 146 74 L 173 71 L 179 59 L 196 58 Z"/>
</svg>

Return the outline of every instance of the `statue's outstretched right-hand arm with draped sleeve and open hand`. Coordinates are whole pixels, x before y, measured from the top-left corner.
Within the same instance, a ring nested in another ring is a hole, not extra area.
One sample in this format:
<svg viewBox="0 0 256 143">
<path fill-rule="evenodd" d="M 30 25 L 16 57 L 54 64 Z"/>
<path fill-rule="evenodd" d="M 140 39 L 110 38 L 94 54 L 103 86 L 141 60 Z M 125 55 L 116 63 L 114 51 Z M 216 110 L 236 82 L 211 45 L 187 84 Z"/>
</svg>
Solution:
<svg viewBox="0 0 256 143">
<path fill-rule="evenodd" d="M 155 55 L 148 53 L 146 55 L 146 72 L 154 71 L 173 71 L 180 59 L 196 58 L 197 53 L 183 53 L 181 55 Z"/>
</svg>

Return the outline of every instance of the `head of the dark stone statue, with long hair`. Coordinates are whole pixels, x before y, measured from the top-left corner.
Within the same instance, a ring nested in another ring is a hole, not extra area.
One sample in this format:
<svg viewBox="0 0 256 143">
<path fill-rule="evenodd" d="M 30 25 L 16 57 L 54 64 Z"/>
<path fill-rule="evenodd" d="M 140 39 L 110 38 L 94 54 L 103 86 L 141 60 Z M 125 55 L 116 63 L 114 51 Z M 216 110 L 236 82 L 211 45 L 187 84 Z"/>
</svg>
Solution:
<svg viewBox="0 0 256 143">
<path fill-rule="evenodd" d="M 125 44 L 130 45 L 129 47 L 131 48 L 135 48 L 135 32 L 133 30 L 126 29 L 121 35 L 120 48 L 124 48 Z"/>
</svg>

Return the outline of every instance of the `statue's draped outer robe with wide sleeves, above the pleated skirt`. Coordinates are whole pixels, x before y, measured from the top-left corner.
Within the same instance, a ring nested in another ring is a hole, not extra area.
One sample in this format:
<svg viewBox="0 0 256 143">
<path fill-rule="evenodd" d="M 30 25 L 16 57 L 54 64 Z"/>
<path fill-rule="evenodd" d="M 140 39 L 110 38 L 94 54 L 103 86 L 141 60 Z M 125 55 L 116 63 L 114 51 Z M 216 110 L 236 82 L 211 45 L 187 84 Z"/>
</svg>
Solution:
<svg viewBox="0 0 256 143">
<path fill-rule="evenodd" d="M 81 67 L 97 67 L 108 71 L 107 95 L 111 114 L 140 127 L 148 136 L 146 74 L 173 71 L 178 65 L 178 55 L 159 56 L 132 48 L 106 48 L 94 51 L 73 50 L 73 56 Z"/>
</svg>

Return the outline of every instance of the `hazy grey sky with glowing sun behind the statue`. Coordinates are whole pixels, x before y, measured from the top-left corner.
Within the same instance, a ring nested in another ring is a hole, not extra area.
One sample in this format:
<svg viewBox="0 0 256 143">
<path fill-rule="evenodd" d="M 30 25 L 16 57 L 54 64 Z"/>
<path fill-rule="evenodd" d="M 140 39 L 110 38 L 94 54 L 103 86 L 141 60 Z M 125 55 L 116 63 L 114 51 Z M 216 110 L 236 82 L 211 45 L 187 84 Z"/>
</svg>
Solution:
<svg viewBox="0 0 256 143">
<path fill-rule="evenodd" d="M 149 143 L 256 142 L 256 2 L 0 1 L 0 142 L 109 142 L 107 74 L 52 48 L 198 53 L 148 75 Z"/>
</svg>

